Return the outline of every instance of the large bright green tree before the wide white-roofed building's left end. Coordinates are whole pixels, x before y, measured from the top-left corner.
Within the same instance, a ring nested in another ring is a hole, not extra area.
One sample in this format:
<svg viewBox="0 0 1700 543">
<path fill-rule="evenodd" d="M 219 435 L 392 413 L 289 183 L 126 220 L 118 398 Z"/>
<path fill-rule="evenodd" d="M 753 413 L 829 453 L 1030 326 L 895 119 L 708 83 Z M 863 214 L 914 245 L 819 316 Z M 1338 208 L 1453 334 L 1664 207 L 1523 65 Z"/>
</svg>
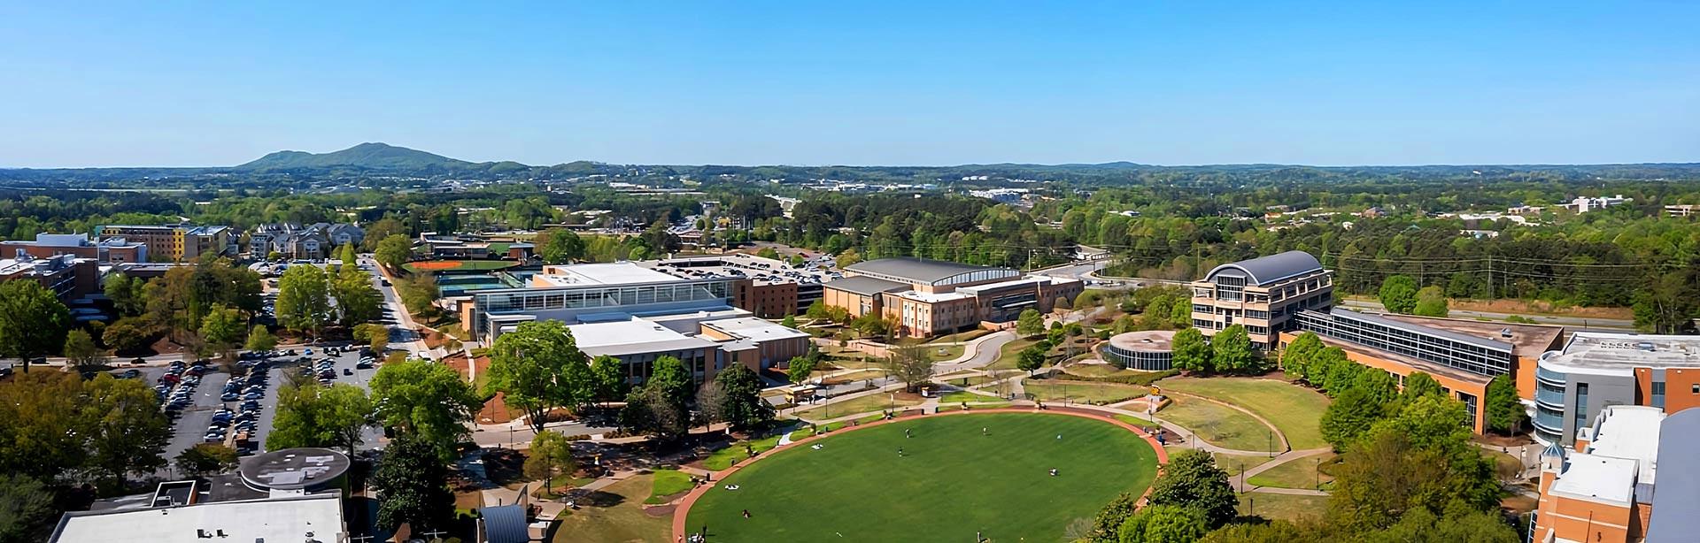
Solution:
<svg viewBox="0 0 1700 543">
<path fill-rule="evenodd" d="M 561 321 L 520 322 L 490 346 L 486 392 L 502 392 L 508 406 L 525 411 L 532 431 L 542 431 L 554 407 L 576 400 L 564 378 L 568 372 L 588 373 L 588 365 L 573 331 Z"/>
</svg>

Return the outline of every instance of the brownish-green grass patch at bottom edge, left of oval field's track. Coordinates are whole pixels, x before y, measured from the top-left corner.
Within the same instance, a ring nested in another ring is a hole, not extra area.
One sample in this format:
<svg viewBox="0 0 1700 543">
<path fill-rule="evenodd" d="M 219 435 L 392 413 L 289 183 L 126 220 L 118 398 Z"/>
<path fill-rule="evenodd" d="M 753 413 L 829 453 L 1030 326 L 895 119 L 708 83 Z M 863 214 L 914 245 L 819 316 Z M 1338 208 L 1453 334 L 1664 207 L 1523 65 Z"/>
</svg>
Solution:
<svg viewBox="0 0 1700 543">
<path fill-rule="evenodd" d="M 602 489 L 617 501 L 609 507 L 581 507 L 561 518 L 554 531 L 556 543 L 580 541 L 668 541 L 673 538 L 673 516 L 649 516 L 643 501 L 649 495 L 654 475 L 636 475 Z"/>
</svg>

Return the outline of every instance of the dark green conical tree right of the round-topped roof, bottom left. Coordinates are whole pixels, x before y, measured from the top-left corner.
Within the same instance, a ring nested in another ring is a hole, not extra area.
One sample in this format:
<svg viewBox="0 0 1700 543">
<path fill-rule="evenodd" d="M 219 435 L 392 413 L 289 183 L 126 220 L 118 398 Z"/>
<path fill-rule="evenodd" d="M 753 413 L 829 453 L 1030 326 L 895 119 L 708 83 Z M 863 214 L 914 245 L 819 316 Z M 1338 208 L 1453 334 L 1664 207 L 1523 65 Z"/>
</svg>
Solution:
<svg viewBox="0 0 1700 543">
<path fill-rule="evenodd" d="M 372 489 L 382 495 L 377 524 L 384 529 L 408 524 L 413 533 L 449 528 L 454 492 L 445 480 L 449 468 L 435 443 L 415 434 L 389 441 L 371 479 Z"/>
</svg>

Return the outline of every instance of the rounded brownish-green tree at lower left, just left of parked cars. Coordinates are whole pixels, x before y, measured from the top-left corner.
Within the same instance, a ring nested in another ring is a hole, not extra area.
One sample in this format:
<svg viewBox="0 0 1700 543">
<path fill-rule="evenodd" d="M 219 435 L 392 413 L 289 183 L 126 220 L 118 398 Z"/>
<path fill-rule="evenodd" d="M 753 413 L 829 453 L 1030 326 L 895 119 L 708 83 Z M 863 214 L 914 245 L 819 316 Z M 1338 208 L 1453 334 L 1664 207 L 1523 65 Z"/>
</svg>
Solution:
<svg viewBox="0 0 1700 543">
<path fill-rule="evenodd" d="M 114 482 L 165 467 L 162 453 L 172 438 L 170 421 L 146 382 L 95 375 L 83 383 L 80 407 L 76 433 L 88 448 L 88 467 Z"/>
</svg>

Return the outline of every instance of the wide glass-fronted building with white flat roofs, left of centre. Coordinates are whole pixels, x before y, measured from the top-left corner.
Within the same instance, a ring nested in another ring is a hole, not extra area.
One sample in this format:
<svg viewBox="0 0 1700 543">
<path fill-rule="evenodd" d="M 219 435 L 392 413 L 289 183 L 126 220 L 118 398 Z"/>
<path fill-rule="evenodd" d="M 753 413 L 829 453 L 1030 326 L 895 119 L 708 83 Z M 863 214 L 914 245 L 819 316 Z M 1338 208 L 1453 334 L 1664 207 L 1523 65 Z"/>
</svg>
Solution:
<svg viewBox="0 0 1700 543">
<path fill-rule="evenodd" d="M 748 278 L 682 278 L 636 263 L 544 266 L 524 288 L 469 292 L 459 305 L 468 331 L 484 344 L 522 322 L 561 321 L 588 356 L 614 356 L 632 383 L 656 358 L 675 356 L 697 380 L 743 363 L 787 368 L 808 350 L 808 334 L 753 319 L 734 307 Z"/>
</svg>

